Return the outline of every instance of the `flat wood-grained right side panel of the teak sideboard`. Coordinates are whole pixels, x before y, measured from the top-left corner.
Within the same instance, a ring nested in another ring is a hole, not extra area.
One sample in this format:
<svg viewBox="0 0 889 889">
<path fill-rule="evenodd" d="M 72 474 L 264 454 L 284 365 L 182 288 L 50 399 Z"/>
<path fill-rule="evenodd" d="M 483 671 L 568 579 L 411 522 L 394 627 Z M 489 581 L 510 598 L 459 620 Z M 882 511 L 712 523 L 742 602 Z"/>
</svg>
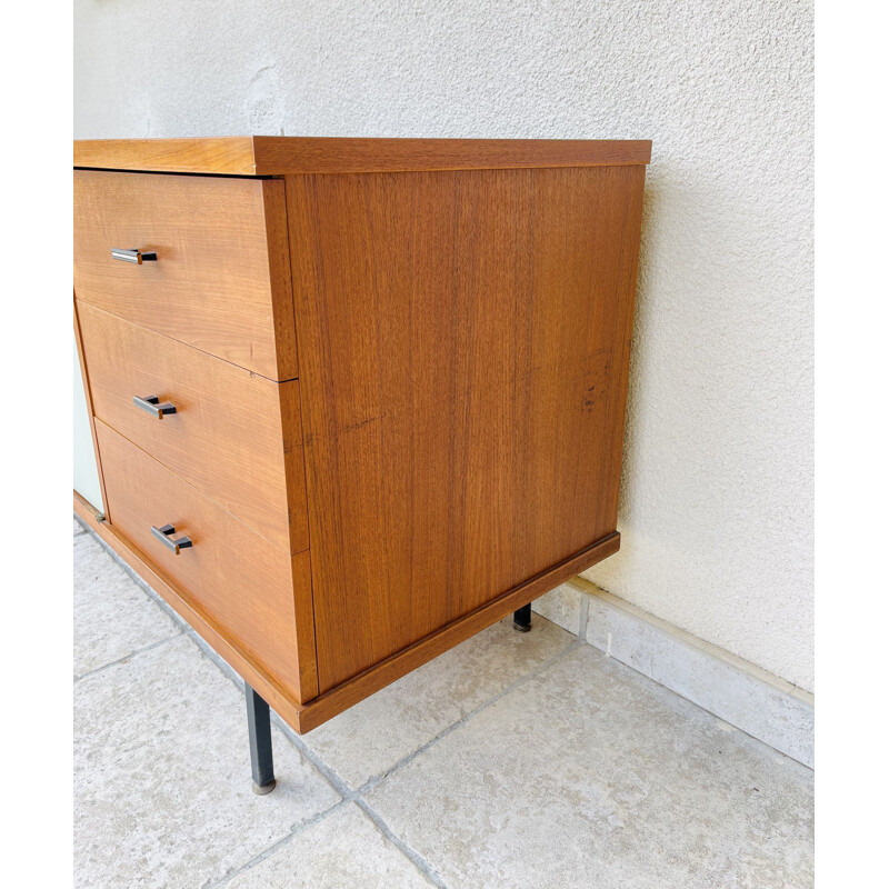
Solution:
<svg viewBox="0 0 889 889">
<path fill-rule="evenodd" d="M 615 531 L 643 174 L 288 177 L 321 693 Z"/>
</svg>

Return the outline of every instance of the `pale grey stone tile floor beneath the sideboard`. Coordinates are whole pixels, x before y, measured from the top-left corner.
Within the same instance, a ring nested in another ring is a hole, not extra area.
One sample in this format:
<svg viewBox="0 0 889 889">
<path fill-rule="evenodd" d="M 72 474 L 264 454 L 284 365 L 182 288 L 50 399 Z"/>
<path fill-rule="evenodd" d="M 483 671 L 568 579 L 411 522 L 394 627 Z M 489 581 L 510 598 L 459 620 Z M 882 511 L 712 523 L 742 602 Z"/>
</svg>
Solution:
<svg viewBox="0 0 889 889">
<path fill-rule="evenodd" d="M 240 680 L 74 522 L 78 887 L 810 887 L 812 772 L 535 616 L 250 789 Z"/>
</svg>

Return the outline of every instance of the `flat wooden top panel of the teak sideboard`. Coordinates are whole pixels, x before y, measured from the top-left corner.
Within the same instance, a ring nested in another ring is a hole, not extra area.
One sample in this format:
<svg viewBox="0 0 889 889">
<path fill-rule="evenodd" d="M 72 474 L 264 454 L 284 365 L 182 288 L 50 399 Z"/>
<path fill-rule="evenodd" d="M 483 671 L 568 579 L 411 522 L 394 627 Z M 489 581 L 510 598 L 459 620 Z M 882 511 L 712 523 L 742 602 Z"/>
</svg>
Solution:
<svg viewBox="0 0 889 889">
<path fill-rule="evenodd" d="M 333 139 L 236 136 L 214 139 L 74 141 L 74 167 L 217 176 L 490 170 L 648 163 L 650 140 Z"/>
</svg>

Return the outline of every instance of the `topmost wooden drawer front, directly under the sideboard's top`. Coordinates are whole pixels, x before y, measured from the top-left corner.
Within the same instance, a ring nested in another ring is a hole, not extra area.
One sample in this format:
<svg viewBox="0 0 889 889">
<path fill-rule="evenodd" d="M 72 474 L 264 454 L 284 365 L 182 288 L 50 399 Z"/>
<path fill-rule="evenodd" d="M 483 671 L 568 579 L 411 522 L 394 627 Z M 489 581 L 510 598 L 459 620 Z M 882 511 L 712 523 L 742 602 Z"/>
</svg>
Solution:
<svg viewBox="0 0 889 889">
<path fill-rule="evenodd" d="M 281 180 L 77 170 L 74 207 L 79 299 L 269 379 L 297 376 Z"/>
</svg>

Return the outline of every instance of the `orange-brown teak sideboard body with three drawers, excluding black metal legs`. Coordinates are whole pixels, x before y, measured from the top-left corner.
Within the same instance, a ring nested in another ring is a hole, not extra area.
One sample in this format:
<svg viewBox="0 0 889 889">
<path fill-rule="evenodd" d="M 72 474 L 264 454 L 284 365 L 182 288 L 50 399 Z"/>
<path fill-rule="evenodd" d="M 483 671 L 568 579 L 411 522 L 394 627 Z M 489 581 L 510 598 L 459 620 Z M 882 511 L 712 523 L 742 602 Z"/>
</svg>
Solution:
<svg viewBox="0 0 889 889">
<path fill-rule="evenodd" d="M 650 151 L 74 142 L 76 508 L 297 731 L 618 550 Z"/>
</svg>

